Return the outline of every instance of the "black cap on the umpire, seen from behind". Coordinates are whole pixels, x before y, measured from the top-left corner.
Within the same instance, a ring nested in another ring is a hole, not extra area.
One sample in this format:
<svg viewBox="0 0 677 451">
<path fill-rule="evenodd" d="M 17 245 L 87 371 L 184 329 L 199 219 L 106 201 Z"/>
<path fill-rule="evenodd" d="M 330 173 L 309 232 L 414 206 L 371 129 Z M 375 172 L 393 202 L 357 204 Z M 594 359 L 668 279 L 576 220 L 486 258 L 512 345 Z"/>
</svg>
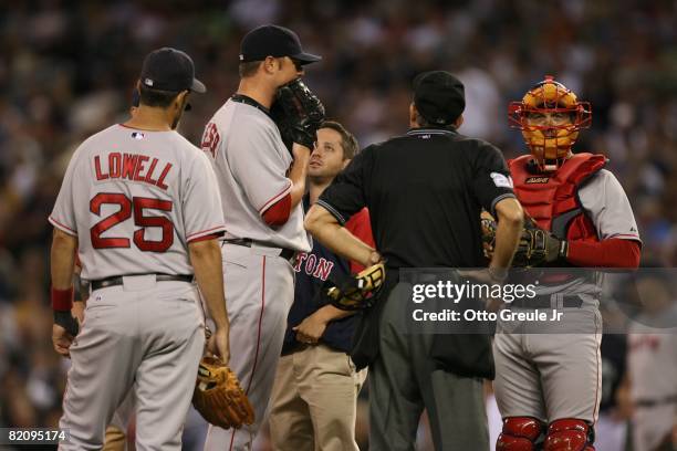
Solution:
<svg viewBox="0 0 677 451">
<path fill-rule="evenodd" d="M 466 108 L 466 91 L 456 76 L 446 71 L 430 71 L 414 78 L 414 105 L 434 125 L 449 125 Z"/>
</svg>

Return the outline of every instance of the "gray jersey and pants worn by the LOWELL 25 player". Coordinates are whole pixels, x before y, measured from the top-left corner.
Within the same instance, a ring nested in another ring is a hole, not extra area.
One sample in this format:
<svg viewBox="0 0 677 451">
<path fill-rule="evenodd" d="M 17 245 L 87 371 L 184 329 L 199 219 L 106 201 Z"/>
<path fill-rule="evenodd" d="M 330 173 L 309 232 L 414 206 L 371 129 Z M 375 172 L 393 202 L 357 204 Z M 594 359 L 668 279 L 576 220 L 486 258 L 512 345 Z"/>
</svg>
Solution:
<svg viewBox="0 0 677 451">
<path fill-rule="evenodd" d="M 207 156 L 176 132 L 114 125 L 73 155 L 50 222 L 77 237 L 83 277 L 123 282 L 91 293 L 70 348 L 61 450 L 101 449 L 131 391 L 137 449 L 180 449 L 204 314 L 195 284 L 156 274 L 192 274 L 188 243 L 223 232 L 220 203 Z"/>
</svg>

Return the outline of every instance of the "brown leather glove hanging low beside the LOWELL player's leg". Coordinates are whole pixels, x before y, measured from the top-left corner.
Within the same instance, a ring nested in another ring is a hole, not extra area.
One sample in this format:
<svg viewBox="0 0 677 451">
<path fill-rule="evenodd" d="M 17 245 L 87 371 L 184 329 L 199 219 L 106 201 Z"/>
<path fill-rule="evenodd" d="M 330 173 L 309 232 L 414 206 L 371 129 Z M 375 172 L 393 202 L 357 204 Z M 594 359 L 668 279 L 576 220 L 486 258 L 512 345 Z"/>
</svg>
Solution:
<svg viewBox="0 0 677 451">
<path fill-rule="evenodd" d="M 228 429 L 252 424 L 254 411 L 240 381 L 218 357 L 202 357 L 192 405 L 213 426 Z"/>
</svg>

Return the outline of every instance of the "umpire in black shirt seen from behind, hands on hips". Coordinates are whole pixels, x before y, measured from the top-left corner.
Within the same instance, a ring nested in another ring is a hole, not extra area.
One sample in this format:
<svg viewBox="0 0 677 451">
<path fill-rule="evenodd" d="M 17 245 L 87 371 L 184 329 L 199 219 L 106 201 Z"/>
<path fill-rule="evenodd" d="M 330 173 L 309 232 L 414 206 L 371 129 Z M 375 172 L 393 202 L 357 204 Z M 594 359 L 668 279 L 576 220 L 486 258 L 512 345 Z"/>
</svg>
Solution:
<svg viewBox="0 0 677 451">
<path fill-rule="evenodd" d="M 407 334 L 403 312 L 410 297 L 398 294 L 407 292 L 404 284 L 393 287 L 400 268 L 482 266 L 482 208 L 498 219 L 489 274 L 498 282 L 510 265 L 522 209 L 500 150 L 457 132 L 465 105 L 464 85 L 454 75 L 418 75 L 409 132 L 360 153 L 305 219 L 306 229 L 337 254 L 365 266 L 383 258 L 387 265 L 389 292 L 367 311 L 352 352 L 358 367 L 369 366 L 372 450 L 414 450 L 424 408 L 437 450 L 489 449 L 480 378 L 491 377 L 489 338 Z M 364 207 L 378 251 L 342 227 Z M 442 368 L 433 354 L 451 364 Z"/>
</svg>

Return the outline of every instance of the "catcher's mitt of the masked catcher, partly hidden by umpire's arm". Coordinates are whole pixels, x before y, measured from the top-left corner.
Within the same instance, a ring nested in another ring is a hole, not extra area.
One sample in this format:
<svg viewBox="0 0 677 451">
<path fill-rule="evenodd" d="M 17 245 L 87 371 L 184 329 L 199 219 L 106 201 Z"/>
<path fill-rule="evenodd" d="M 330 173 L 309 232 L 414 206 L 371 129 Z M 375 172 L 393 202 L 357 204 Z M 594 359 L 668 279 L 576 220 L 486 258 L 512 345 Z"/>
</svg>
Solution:
<svg viewBox="0 0 677 451">
<path fill-rule="evenodd" d="M 496 244 L 497 223 L 491 216 L 487 214 L 482 214 L 480 222 L 485 256 L 490 258 Z M 566 255 L 566 241 L 541 229 L 533 218 L 524 218 L 524 229 L 522 229 L 518 249 L 512 259 L 513 268 L 542 266 L 564 255 Z"/>
</svg>

